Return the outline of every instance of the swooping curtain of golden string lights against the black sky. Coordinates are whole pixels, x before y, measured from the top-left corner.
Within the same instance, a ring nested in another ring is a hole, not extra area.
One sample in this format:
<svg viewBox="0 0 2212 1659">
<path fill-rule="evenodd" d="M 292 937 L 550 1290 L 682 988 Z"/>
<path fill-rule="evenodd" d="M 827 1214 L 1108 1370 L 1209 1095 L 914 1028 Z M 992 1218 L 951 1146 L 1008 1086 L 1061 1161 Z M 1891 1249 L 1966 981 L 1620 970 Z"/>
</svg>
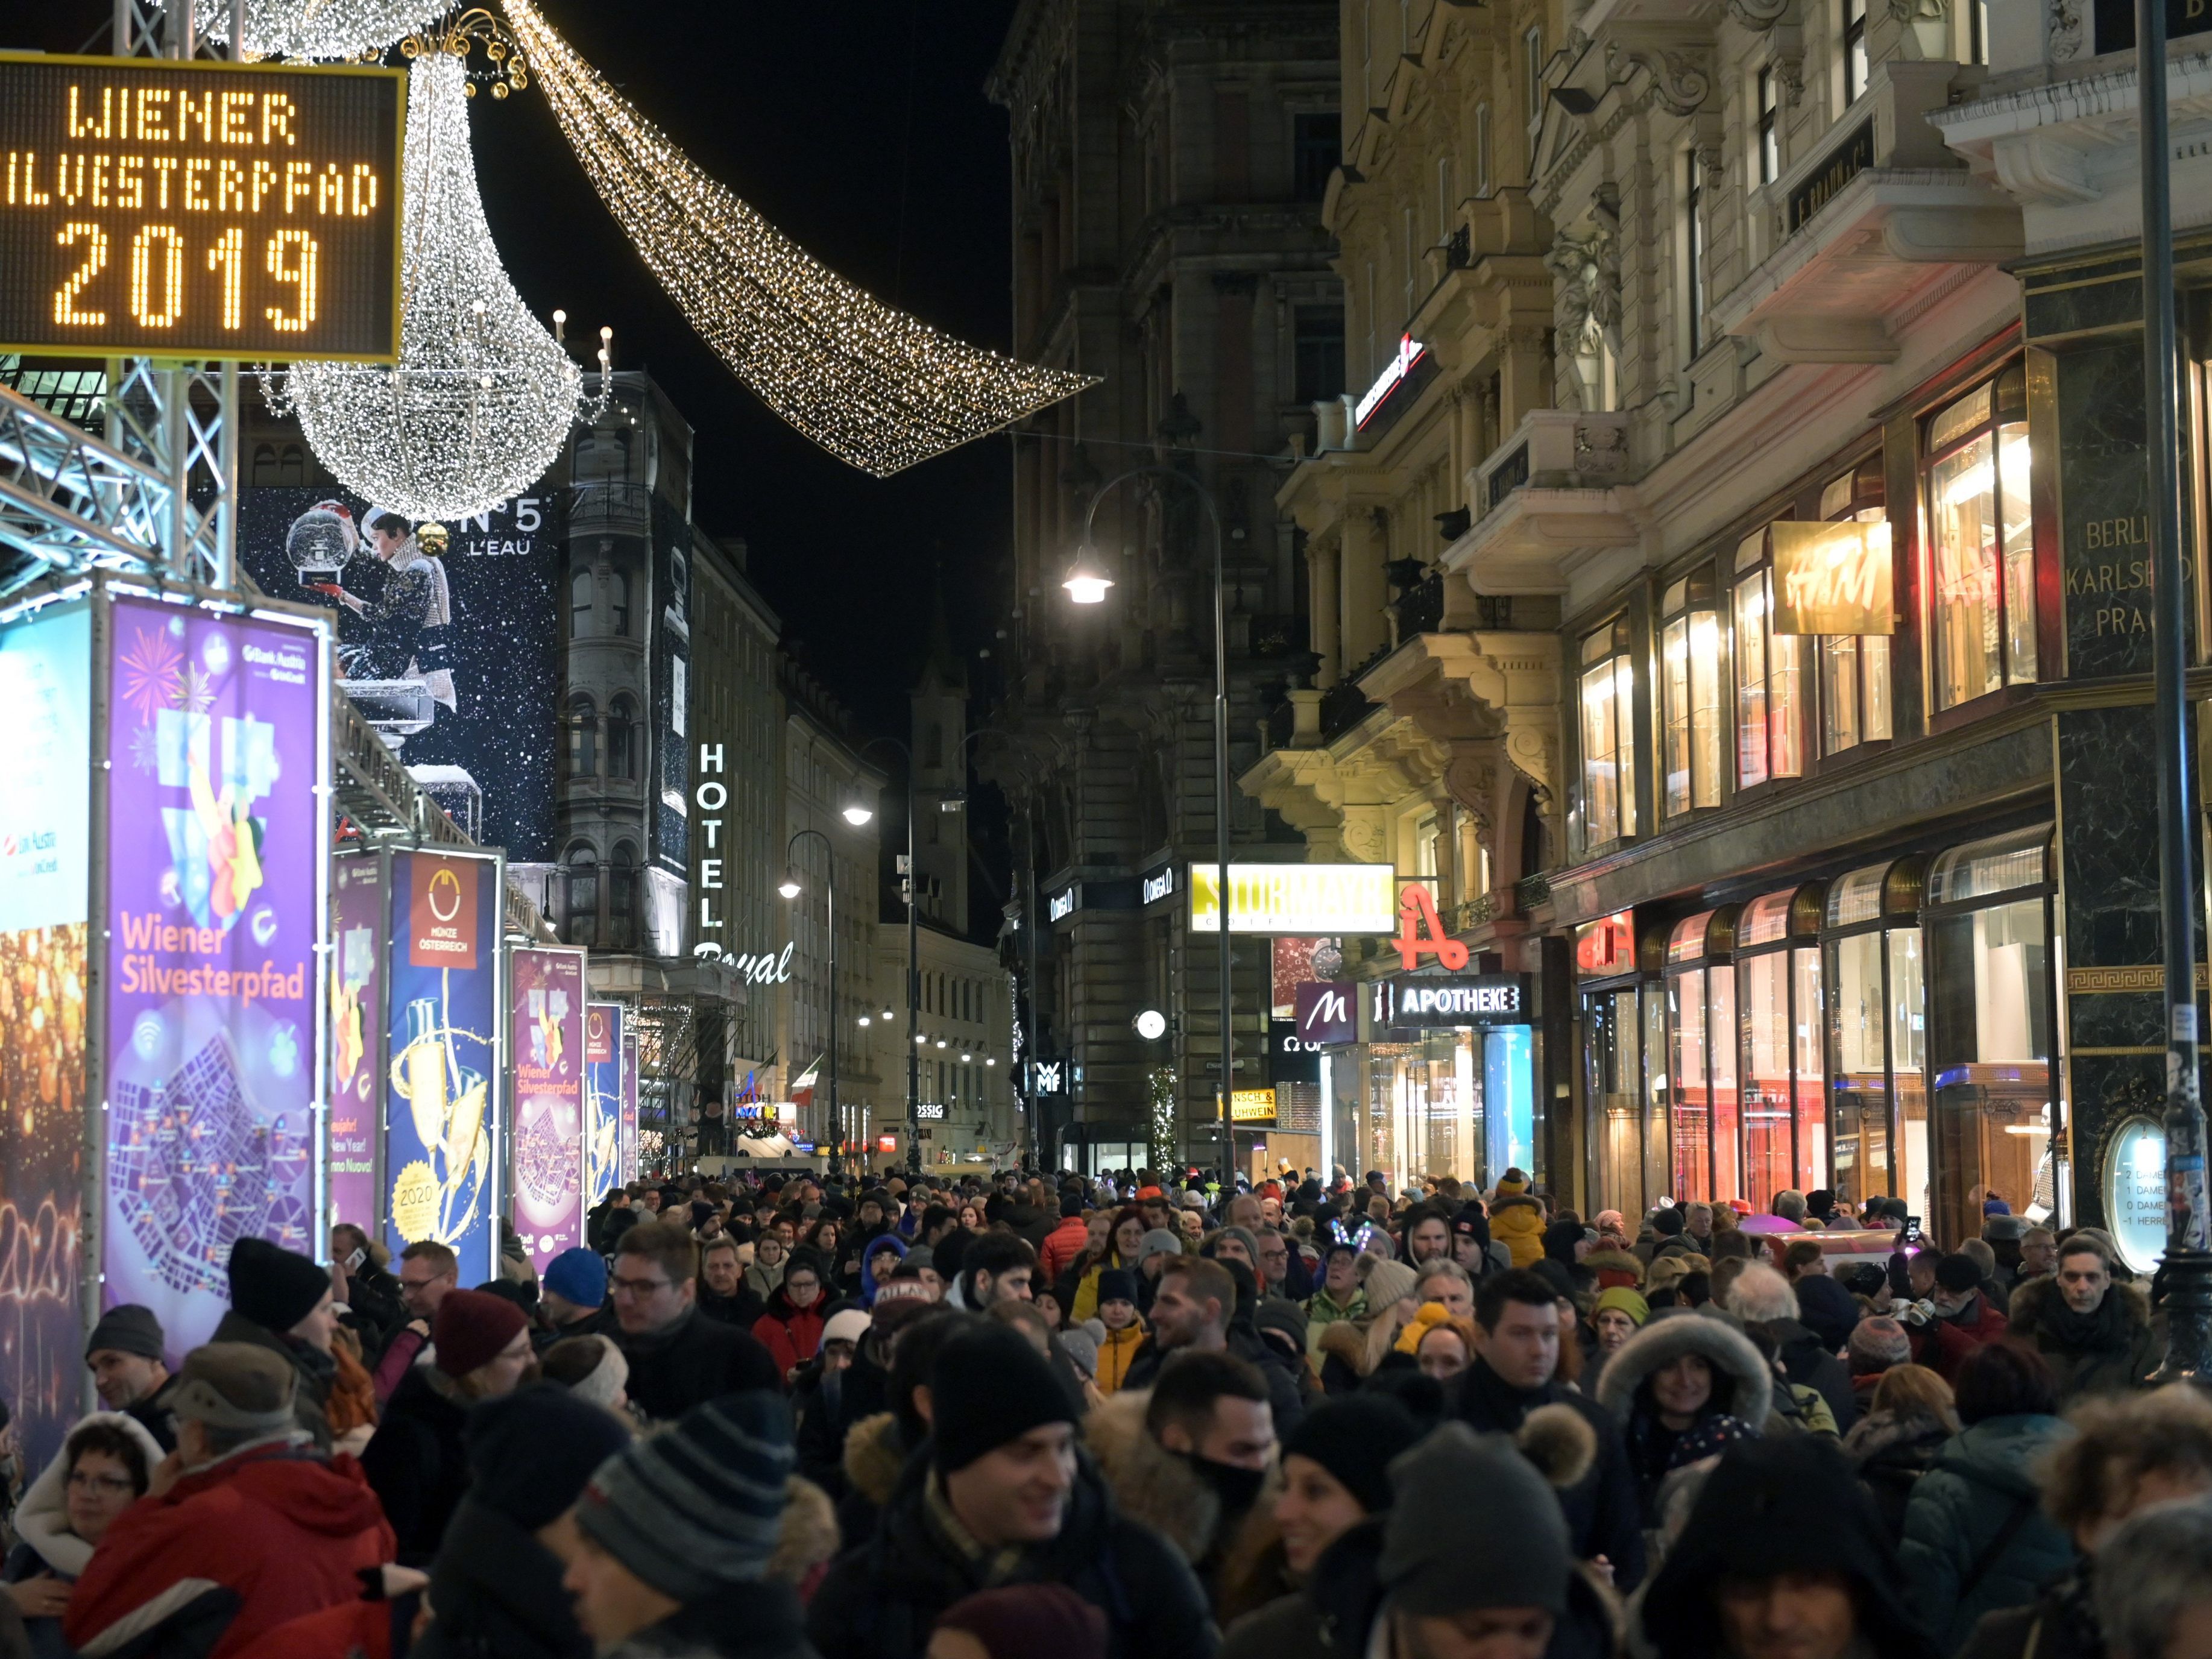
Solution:
<svg viewBox="0 0 2212 1659">
<path fill-rule="evenodd" d="M 504 11 L 584 173 L 661 288 L 770 409 L 832 456 L 883 478 L 1095 385 L 956 341 L 845 281 L 692 164 L 529 0 Z"/>
</svg>

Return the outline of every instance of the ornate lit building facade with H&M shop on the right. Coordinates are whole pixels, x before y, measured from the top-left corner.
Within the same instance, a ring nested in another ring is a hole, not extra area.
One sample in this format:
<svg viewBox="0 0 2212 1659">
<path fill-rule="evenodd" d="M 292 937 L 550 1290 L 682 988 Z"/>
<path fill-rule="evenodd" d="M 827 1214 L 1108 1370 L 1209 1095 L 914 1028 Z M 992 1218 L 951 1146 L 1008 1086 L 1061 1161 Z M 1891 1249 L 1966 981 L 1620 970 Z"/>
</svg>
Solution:
<svg viewBox="0 0 2212 1659">
<path fill-rule="evenodd" d="M 1352 392 L 1276 498 L 1318 672 L 1241 781 L 1526 1000 L 1334 1053 L 1336 1161 L 1944 1239 L 2121 1206 L 2159 1033 L 2106 11 L 1347 4 Z"/>
</svg>

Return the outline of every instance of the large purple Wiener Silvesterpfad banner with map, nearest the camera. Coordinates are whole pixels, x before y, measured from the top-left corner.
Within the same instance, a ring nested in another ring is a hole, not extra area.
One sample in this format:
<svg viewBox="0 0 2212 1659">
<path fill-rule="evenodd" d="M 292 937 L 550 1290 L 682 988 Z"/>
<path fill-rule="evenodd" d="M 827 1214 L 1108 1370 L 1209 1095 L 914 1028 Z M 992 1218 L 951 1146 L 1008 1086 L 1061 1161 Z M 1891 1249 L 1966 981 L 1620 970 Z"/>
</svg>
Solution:
<svg viewBox="0 0 2212 1659">
<path fill-rule="evenodd" d="M 175 1365 L 232 1243 L 323 1254 L 325 668 L 274 619 L 115 599 L 111 630 L 104 1301 L 150 1307 Z"/>
</svg>

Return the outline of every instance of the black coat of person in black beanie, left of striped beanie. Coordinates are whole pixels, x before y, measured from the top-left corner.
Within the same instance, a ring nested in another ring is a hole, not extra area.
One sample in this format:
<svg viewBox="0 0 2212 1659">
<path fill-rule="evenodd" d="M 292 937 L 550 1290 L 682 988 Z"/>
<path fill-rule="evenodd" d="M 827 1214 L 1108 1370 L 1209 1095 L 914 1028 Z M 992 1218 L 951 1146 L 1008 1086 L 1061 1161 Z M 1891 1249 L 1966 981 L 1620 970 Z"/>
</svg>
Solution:
<svg viewBox="0 0 2212 1659">
<path fill-rule="evenodd" d="M 562 1562 L 522 1526 L 462 1498 L 429 1568 L 438 1615 L 409 1659 L 591 1659 Z"/>
</svg>

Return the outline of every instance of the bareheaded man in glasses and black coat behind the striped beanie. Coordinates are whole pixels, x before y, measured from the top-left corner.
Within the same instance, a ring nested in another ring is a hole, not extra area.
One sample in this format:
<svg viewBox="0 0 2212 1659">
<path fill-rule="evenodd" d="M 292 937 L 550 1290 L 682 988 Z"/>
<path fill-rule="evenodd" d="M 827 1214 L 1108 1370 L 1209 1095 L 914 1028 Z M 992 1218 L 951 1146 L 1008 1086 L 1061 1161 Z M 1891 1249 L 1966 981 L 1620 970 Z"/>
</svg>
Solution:
<svg viewBox="0 0 2212 1659">
<path fill-rule="evenodd" d="M 615 1338 L 630 1363 L 630 1407 L 675 1422 L 695 1405 L 734 1389 L 783 1391 L 768 1349 L 737 1325 L 699 1312 L 699 1245 L 677 1221 L 646 1221 L 622 1234 L 608 1279 Z"/>
</svg>

